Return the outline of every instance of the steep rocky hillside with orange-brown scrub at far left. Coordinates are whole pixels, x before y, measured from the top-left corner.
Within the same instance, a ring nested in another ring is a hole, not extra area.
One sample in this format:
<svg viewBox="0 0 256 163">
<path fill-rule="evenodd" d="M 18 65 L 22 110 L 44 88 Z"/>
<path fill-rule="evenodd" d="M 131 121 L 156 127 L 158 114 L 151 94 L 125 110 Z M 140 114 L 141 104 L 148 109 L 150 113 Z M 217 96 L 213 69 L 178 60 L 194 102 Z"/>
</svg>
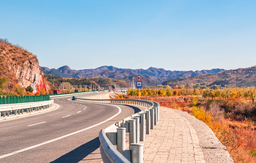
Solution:
<svg viewBox="0 0 256 163">
<path fill-rule="evenodd" d="M 36 56 L 22 47 L 12 45 L 6 39 L 0 39 L 0 79 L 4 78 L 8 83 L 5 88 L 1 88 L 2 92 L 15 95 L 19 86 L 31 86 L 33 93 L 41 90 L 48 92 Z"/>
</svg>

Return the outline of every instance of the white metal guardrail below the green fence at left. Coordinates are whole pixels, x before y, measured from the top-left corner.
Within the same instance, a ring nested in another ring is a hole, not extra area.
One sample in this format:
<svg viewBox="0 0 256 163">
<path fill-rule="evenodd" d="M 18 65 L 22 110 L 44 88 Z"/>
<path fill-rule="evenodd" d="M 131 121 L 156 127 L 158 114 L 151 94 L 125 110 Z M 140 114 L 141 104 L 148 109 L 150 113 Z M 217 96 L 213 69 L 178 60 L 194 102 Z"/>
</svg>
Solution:
<svg viewBox="0 0 256 163">
<path fill-rule="evenodd" d="M 54 103 L 54 100 L 39 101 L 39 102 L 26 102 L 16 104 L 0 105 L 0 117 L 10 116 L 12 114 L 23 114 L 24 112 L 32 112 L 49 108 Z"/>
</svg>

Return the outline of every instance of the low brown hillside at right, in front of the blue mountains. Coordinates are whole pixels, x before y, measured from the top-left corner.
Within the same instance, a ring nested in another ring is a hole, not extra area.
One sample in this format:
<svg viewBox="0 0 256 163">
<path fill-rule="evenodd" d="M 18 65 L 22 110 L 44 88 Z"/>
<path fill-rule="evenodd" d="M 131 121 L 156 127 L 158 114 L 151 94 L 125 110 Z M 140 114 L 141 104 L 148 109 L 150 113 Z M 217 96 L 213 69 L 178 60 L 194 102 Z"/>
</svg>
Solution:
<svg viewBox="0 0 256 163">
<path fill-rule="evenodd" d="M 248 68 L 238 68 L 235 70 L 227 70 L 225 72 L 207 75 L 197 75 L 193 77 L 185 77 L 181 79 L 172 79 L 163 82 L 163 85 L 206 85 L 219 87 L 254 87 L 256 86 L 256 66 Z"/>
</svg>

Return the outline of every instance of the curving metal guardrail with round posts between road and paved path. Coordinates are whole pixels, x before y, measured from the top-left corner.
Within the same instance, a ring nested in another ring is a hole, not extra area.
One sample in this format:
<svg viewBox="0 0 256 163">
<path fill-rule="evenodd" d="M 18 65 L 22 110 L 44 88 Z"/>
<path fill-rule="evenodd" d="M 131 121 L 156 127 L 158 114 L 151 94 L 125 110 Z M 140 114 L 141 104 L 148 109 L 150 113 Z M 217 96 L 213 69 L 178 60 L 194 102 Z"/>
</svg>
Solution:
<svg viewBox="0 0 256 163">
<path fill-rule="evenodd" d="M 104 163 L 143 163 L 143 144 L 140 144 L 139 141 L 145 141 L 145 133 L 150 134 L 150 129 L 154 129 L 154 125 L 158 123 L 158 102 L 137 99 L 94 100 L 76 98 L 76 100 L 146 107 L 145 110 L 130 115 L 99 132 L 100 153 Z M 125 133 L 129 133 L 129 148 L 127 149 Z"/>
</svg>

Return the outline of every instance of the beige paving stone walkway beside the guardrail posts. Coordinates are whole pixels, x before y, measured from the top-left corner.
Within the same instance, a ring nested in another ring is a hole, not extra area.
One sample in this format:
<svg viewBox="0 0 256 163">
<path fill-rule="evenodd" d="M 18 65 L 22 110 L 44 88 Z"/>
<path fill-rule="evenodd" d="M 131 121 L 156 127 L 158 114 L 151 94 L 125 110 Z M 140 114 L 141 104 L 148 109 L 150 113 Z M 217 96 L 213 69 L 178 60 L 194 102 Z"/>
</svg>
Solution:
<svg viewBox="0 0 256 163">
<path fill-rule="evenodd" d="M 174 111 L 160 107 L 160 119 L 146 134 L 143 163 L 205 163 L 202 148 L 190 122 Z"/>
</svg>

